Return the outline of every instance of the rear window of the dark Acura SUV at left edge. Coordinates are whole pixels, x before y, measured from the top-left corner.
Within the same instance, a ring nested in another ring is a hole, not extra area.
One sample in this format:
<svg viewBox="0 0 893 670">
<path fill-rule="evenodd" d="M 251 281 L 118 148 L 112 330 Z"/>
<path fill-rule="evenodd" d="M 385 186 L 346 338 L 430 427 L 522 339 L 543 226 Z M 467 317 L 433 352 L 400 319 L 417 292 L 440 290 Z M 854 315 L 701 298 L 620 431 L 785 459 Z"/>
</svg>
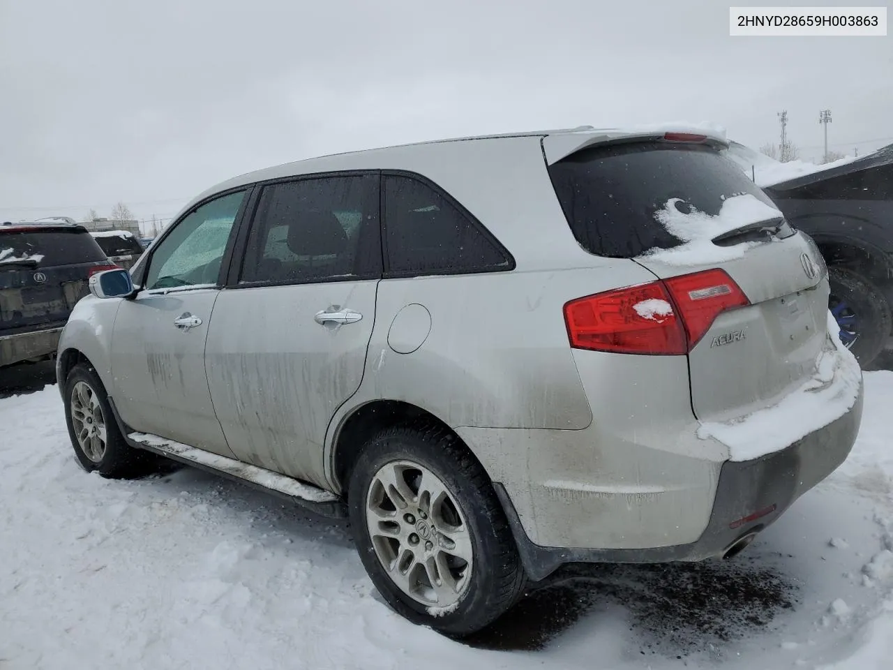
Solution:
<svg viewBox="0 0 893 670">
<path fill-rule="evenodd" d="M 86 231 L 0 229 L 0 269 L 47 267 L 104 261 L 105 254 Z"/>
</svg>

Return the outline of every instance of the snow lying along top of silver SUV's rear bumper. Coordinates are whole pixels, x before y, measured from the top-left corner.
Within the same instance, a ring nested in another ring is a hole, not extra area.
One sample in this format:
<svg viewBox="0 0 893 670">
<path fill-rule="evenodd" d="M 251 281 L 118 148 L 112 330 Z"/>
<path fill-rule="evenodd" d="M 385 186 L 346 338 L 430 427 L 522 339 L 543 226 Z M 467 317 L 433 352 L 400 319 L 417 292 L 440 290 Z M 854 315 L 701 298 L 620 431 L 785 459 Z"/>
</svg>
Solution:
<svg viewBox="0 0 893 670">
<path fill-rule="evenodd" d="M 829 312 L 827 346 L 816 358 L 814 375 L 797 389 L 744 418 L 702 423 L 697 436 L 721 441 L 732 461 L 748 461 L 787 448 L 846 414 L 859 397 L 862 370 L 840 344 L 838 331 Z"/>
</svg>

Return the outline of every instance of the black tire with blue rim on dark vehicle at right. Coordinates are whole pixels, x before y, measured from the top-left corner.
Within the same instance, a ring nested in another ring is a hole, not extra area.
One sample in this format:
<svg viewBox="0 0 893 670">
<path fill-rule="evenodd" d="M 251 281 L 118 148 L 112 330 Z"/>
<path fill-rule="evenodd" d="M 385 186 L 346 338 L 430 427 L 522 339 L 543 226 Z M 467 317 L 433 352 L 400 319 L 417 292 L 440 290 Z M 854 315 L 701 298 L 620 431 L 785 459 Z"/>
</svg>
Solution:
<svg viewBox="0 0 893 670">
<path fill-rule="evenodd" d="M 872 281 L 839 267 L 828 269 L 829 309 L 840 326 L 840 341 L 863 367 L 887 345 L 893 316 L 887 298 Z"/>
</svg>

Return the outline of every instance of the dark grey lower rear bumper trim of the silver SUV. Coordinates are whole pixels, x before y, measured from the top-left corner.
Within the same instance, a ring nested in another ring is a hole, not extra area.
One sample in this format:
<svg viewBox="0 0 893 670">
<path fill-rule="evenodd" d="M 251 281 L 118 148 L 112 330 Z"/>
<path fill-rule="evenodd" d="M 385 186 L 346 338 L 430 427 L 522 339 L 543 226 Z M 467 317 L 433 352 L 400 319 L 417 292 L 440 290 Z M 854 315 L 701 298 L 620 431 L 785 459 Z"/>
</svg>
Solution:
<svg viewBox="0 0 893 670">
<path fill-rule="evenodd" d="M 860 390 L 846 414 L 789 448 L 751 461 L 723 463 L 706 528 L 697 540 L 686 544 L 647 549 L 542 547 L 528 537 L 512 499 L 500 483 L 495 485 L 497 496 L 508 516 L 522 563 L 534 580 L 547 577 L 565 563 L 663 563 L 719 557 L 740 538 L 774 522 L 846 460 L 859 431 L 862 407 Z M 742 521 L 756 512 L 763 514 Z"/>
</svg>

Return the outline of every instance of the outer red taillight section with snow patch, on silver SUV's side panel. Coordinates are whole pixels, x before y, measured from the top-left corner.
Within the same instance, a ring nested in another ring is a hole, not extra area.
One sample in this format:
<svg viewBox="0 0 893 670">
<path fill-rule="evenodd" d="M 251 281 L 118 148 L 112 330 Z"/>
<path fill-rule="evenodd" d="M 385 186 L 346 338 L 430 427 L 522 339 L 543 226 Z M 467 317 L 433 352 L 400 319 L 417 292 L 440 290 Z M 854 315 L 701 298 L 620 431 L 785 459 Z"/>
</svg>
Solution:
<svg viewBox="0 0 893 670">
<path fill-rule="evenodd" d="M 564 306 L 571 346 L 623 354 L 684 354 L 685 331 L 660 281 Z"/>
</svg>

